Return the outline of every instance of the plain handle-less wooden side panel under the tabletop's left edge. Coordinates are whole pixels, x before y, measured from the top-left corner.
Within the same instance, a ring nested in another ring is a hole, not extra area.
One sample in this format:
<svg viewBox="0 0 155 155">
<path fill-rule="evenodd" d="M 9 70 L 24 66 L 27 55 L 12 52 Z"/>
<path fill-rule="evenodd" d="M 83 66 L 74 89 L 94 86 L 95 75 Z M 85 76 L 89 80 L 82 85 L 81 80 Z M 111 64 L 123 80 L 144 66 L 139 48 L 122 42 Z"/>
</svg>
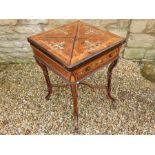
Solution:
<svg viewBox="0 0 155 155">
<path fill-rule="evenodd" d="M 60 66 L 57 62 L 50 59 L 47 55 L 45 55 L 43 52 L 32 46 L 34 55 L 39 58 L 43 63 L 45 63 L 51 70 L 53 70 L 56 74 L 62 76 L 67 81 L 70 80 L 71 73 L 68 72 L 66 69 L 64 69 L 62 66 Z"/>
</svg>

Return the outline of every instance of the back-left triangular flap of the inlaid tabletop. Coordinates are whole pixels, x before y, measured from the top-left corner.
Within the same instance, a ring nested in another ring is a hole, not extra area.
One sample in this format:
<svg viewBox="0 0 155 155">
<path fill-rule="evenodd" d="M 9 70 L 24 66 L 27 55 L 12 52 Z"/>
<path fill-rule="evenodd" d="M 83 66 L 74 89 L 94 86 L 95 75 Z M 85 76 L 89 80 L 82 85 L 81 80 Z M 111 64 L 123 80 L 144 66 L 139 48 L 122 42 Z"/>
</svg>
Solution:
<svg viewBox="0 0 155 155">
<path fill-rule="evenodd" d="M 37 38 L 73 38 L 76 36 L 78 22 L 73 22 L 64 26 L 60 26 L 56 29 L 46 31 L 39 35 L 33 36 L 33 39 Z"/>
</svg>

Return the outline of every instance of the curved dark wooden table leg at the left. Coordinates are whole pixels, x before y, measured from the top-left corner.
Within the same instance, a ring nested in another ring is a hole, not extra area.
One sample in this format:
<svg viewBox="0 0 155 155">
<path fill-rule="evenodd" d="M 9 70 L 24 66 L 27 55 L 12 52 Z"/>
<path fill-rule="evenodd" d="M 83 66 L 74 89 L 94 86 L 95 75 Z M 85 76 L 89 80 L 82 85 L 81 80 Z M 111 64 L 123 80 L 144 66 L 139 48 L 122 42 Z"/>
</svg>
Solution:
<svg viewBox="0 0 155 155">
<path fill-rule="evenodd" d="M 52 84 L 51 84 L 50 79 L 49 79 L 47 67 L 42 62 L 40 62 L 37 58 L 35 58 L 35 60 L 36 60 L 37 64 L 41 67 L 41 69 L 43 70 L 44 77 L 45 77 L 46 84 L 47 84 L 47 89 L 48 89 L 48 94 L 45 97 L 45 99 L 49 100 L 50 95 L 52 93 Z"/>
</svg>

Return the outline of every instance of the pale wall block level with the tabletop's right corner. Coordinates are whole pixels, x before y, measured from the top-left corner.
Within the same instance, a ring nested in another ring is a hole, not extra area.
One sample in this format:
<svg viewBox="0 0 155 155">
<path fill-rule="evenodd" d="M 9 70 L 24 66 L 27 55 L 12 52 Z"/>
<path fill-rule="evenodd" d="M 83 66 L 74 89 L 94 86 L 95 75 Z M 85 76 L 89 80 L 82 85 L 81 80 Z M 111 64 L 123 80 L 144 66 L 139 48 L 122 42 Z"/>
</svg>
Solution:
<svg viewBox="0 0 155 155">
<path fill-rule="evenodd" d="M 130 34 L 127 42 L 128 47 L 152 47 L 155 37 L 149 34 Z"/>
</svg>

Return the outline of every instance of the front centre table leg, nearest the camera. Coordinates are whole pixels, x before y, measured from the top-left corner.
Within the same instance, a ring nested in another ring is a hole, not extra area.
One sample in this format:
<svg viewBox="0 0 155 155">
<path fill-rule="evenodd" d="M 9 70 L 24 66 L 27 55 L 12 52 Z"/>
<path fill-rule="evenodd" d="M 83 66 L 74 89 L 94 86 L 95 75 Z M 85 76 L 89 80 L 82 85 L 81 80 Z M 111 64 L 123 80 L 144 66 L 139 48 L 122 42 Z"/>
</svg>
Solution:
<svg viewBox="0 0 155 155">
<path fill-rule="evenodd" d="M 78 93 L 77 93 L 77 84 L 71 84 L 71 93 L 73 97 L 73 116 L 74 116 L 74 126 L 75 130 L 78 130 Z"/>
</svg>

